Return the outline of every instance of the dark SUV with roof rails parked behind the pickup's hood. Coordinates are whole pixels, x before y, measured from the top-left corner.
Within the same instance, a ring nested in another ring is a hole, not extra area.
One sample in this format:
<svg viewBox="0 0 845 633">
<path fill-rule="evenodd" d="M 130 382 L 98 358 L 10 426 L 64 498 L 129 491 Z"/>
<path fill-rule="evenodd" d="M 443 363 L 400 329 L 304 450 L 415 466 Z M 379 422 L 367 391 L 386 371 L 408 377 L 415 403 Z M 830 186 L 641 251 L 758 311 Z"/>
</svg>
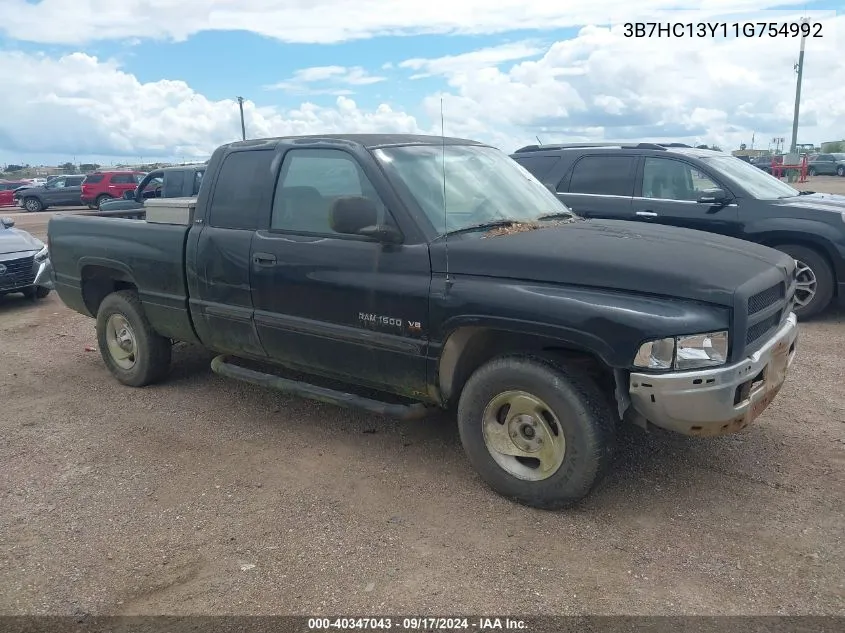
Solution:
<svg viewBox="0 0 845 633">
<path fill-rule="evenodd" d="M 699 229 L 788 253 L 798 262 L 799 317 L 845 298 L 845 196 L 798 191 L 734 156 L 678 143 L 529 145 L 511 158 L 581 216 Z"/>
</svg>

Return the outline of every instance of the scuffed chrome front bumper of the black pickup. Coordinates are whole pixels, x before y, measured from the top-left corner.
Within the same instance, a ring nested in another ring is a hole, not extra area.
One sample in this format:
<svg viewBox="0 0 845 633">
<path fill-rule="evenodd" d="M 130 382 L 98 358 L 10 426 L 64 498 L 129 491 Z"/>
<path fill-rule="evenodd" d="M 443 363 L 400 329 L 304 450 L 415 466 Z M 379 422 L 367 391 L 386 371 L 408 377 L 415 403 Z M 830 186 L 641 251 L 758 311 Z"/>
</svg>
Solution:
<svg viewBox="0 0 845 633">
<path fill-rule="evenodd" d="M 631 404 L 640 416 L 684 435 L 725 435 L 754 421 L 786 380 L 795 358 L 798 321 L 792 313 L 758 352 L 715 369 L 632 373 Z"/>
</svg>

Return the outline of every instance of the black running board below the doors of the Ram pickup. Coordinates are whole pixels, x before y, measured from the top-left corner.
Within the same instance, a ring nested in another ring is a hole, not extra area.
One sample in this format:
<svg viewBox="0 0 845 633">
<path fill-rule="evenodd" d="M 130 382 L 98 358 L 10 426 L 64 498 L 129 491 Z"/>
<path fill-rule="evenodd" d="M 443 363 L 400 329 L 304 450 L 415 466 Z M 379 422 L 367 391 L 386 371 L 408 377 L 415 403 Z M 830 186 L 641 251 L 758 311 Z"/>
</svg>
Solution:
<svg viewBox="0 0 845 633">
<path fill-rule="evenodd" d="M 393 404 L 389 402 L 382 402 L 380 400 L 373 400 L 365 398 L 344 391 L 336 391 L 327 387 L 319 387 L 307 382 L 299 380 L 289 380 L 281 376 L 267 374 L 240 365 L 233 365 L 226 362 L 226 355 L 221 354 L 216 356 L 211 361 L 211 371 L 220 376 L 227 378 L 234 378 L 243 382 L 248 382 L 259 387 L 269 387 L 277 391 L 283 391 L 302 398 L 309 398 L 311 400 L 318 400 L 328 404 L 334 404 L 339 407 L 348 409 L 363 409 L 370 413 L 377 413 L 391 418 L 398 418 L 400 420 L 418 420 L 420 418 L 430 415 L 434 411 L 439 411 L 436 407 L 429 407 L 422 403 L 414 404 Z"/>
</svg>

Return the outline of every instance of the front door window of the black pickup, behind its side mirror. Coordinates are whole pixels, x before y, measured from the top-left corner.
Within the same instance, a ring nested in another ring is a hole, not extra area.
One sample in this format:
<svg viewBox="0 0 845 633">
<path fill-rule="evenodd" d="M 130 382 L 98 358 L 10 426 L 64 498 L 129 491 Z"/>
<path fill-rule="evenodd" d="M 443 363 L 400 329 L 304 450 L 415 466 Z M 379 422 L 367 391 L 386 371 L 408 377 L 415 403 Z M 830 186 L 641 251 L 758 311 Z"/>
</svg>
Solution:
<svg viewBox="0 0 845 633">
<path fill-rule="evenodd" d="M 339 235 L 332 228 L 332 209 L 341 198 L 369 198 L 379 222 L 389 214 L 355 158 L 335 149 L 294 149 L 285 154 L 270 229 L 291 233 Z"/>
</svg>

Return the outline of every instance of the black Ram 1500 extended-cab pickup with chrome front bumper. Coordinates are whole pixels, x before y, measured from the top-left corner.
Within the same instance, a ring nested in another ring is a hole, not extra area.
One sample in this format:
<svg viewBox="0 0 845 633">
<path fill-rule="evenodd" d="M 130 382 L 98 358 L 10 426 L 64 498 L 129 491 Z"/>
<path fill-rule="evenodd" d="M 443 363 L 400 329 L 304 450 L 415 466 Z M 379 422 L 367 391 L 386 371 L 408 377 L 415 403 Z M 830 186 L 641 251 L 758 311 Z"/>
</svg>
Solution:
<svg viewBox="0 0 845 633">
<path fill-rule="evenodd" d="M 744 428 L 794 358 L 792 257 L 585 220 L 473 141 L 232 143 L 181 202 L 195 207 L 169 223 L 50 220 L 55 288 L 96 318 L 119 381 L 165 378 L 187 341 L 218 354 L 215 372 L 289 393 L 403 419 L 452 410 L 482 478 L 529 505 L 587 495 L 622 420 Z"/>
</svg>

